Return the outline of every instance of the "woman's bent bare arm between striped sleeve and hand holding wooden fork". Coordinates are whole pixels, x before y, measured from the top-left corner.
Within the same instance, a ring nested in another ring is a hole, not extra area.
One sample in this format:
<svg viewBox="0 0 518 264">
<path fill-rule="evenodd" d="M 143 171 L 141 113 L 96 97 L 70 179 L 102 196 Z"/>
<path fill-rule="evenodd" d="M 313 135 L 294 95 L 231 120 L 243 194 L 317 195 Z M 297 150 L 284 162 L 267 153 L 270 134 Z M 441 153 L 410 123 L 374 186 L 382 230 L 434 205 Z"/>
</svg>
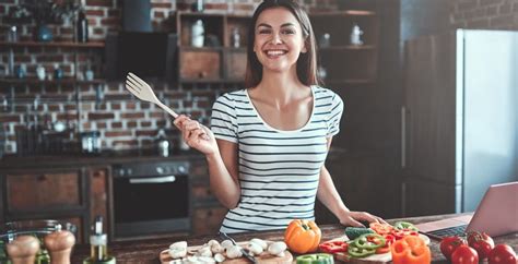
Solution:
<svg viewBox="0 0 518 264">
<path fill-rule="evenodd" d="M 240 199 L 237 168 L 237 144 L 216 140 L 219 152 L 205 155 L 212 193 L 220 203 L 232 209 Z"/>
</svg>

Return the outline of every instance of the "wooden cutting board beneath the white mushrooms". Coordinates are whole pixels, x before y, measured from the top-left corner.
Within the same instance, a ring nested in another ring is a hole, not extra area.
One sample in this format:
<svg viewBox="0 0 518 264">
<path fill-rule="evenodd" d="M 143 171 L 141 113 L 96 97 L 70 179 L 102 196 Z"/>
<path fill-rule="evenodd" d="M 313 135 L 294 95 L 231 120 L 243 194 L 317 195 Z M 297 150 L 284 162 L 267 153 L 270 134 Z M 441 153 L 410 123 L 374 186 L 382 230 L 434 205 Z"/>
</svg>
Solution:
<svg viewBox="0 0 518 264">
<path fill-rule="evenodd" d="M 246 242 L 237 242 L 237 244 L 245 247 L 248 243 Z M 272 243 L 272 241 L 267 241 L 268 244 Z M 192 247 L 187 247 L 187 254 L 188 255 L 193 255 L 195 252 L 197 252 L 201 245 L 192 245 Z M 225 255 L 226 257 L 226 255 Z M 284 251 L 284 256 L 276 256 L 276 255 L 271 255 L 268 252 L 262 252 L 260 255 L 256 255 L 256 261 L 257 263 L 260 264 L 292 264 L 293 262 L 293 255 L 290 253 L 290 251 Z M 173 261 L 173 257 L 169 255 L 169 250 L 163 250 L 160 252 L 160 261 L 161 263 L 169 263 Z M 246 257 L 238 257 L 238 259 L 226 259 L 224 264 L 243 264 L 243 263 L 250 263 Z"/>
</svg>

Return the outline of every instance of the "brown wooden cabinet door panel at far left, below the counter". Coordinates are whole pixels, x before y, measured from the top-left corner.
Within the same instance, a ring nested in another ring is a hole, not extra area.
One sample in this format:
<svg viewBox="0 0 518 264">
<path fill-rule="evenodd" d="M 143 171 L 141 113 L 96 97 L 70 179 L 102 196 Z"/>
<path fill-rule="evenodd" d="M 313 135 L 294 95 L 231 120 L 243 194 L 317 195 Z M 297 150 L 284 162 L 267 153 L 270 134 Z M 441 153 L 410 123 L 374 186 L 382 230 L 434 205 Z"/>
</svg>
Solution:
<svg viewBox="0 0 518 264">
<path fill-rule="evenodd" d="M 9 213 L 81 209 L 81 171 L 8 175 Z"/>
</svg>

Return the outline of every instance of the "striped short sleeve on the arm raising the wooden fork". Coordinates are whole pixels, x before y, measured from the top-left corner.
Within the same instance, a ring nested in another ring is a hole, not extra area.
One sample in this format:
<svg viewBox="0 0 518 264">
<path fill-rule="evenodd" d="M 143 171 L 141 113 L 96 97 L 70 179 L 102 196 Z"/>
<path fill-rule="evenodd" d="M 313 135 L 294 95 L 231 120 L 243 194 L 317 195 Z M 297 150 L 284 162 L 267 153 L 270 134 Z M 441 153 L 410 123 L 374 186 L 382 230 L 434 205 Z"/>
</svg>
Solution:
<svg viewBox="0 0 518 264">
<path fill-rule="evenodd" d="M 212 106 L 211 131 L 214 137 L 237 143 L 235 101 L 227 94 L 220 96 Z"/>
</svg>

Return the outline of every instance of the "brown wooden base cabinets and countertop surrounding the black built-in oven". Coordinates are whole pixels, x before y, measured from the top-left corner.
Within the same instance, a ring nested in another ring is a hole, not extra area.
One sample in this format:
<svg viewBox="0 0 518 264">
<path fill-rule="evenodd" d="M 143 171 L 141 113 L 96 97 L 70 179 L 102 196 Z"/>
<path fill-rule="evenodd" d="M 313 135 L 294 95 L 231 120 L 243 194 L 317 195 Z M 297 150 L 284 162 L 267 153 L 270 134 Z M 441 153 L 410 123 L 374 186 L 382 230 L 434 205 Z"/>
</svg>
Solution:
<svg viewBox="0 0 518 264">
<path fill-rule="evenodd" d="M 5 157 L 0 159 L 0 225 L 24 219 L 66 220 L 78 226 L 78 241 L 87 243 L 95 216 L 103 216 L 104 227 L 108 230 L 111 228 L 111 165 L 167 159 L 187 159 L 191 164 L 192 228 L 189 233 L 199 236 L 216 232 L 227 209 L 212 195 L 207 163 L 198 154 L 168 158 L 134 155 Z M 154 237 L 160 236 L 164 237 L 158 233 Z"/>
</svg>

